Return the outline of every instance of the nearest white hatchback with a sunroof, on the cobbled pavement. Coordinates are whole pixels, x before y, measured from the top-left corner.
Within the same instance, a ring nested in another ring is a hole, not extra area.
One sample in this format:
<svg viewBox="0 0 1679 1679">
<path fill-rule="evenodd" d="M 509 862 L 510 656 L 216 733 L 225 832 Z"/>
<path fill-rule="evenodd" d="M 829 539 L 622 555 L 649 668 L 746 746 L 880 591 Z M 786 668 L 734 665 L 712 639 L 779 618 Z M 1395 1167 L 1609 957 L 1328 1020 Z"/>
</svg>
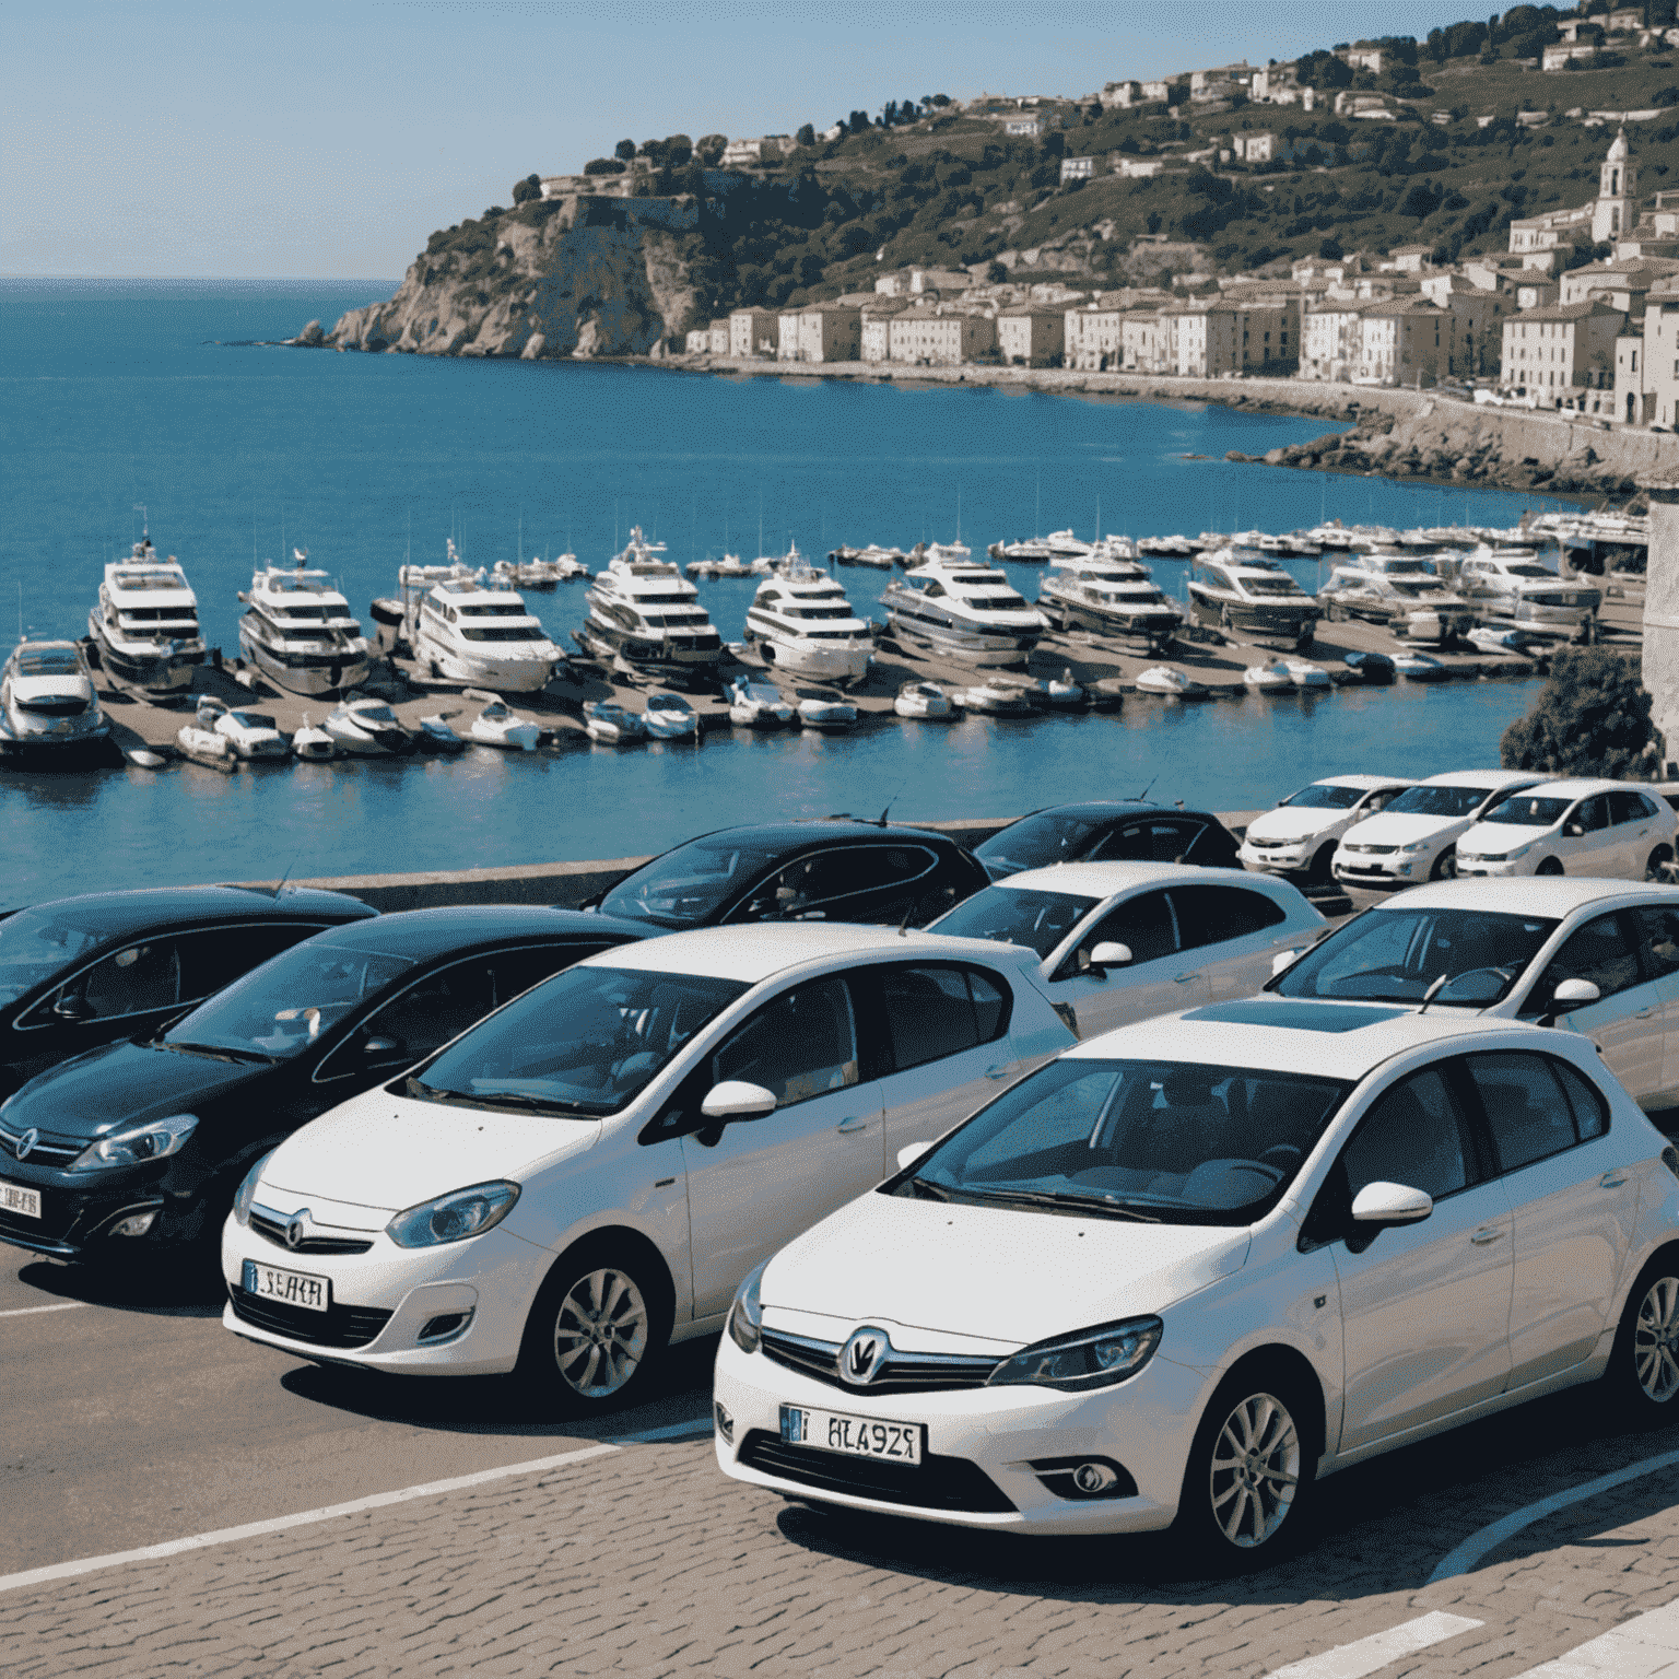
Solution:
<svg viewBox="0 0 1679 1679">
<path fill-rule="evenodd" d="M 1541 1394 L 1672 1420 L 1676 1335 L 1679 1152 L 1583 1038 L 1253 997 L 1070 1049 L 747 1276 L 715 1449 L 1236 1567 L 1318 1478 Z"/>
</svg>

